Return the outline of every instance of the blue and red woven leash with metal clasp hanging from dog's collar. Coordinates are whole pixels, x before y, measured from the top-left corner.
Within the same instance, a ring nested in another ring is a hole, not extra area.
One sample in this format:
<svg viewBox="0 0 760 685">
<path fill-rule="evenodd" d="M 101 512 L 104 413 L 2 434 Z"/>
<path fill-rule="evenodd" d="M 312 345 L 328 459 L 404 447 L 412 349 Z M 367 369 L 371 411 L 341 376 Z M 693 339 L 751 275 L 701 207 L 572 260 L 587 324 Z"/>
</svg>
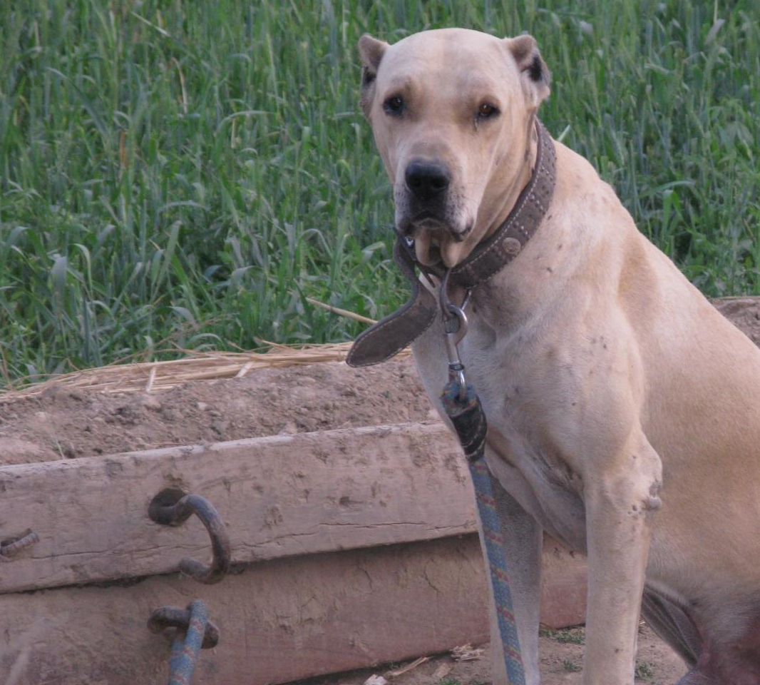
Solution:
<svg viewBox="0 0 760 685">
<path fill-rule="evenodd" d="M 467 316 L 464 315 L 461 307 L 448 302 L 446 281 L 447 279 L 444 278 L 441 284 L 441 309 L 448 351 L 448 383 L 443 388 L 441 401 L 451 423 L 454 424 L 454 430 L 457 431 L 475 487 L 478 514 L 483 526 L 483 544 L 486 546 L 486 558 L 496 604 L 496 617 L 499 621 L 499 633 L 504 649 L 507 685 L 525 685 L 520 640 L 509 589 L 504 538 L 502 538 L 499 515 L 496 512 L 492 476 L 484 458 L 486 414 L 483 412 L 480 398 L 473 386 L 464 379 L 464 365 L 461 363 L 457 349 L 458 343 L 467 333 Z"/>
</svg>

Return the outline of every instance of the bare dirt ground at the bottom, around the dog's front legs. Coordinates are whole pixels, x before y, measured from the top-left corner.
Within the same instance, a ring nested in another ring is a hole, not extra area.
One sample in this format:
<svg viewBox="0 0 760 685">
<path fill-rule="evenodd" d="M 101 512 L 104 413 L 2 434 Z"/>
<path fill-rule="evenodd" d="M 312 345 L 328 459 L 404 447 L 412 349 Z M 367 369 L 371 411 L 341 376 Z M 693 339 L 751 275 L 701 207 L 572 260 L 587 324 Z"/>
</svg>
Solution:
<svg viewBox="0 0 760 685">
<path fill-rule="evenodd" d="M 583 677 L 583 645 L 582 627 L 542 630 L 539 645 L 542 685 L 580 685 Z M 435 655 L 420 665 L 414 665 L 415 661 L 387 664 L 384 668 L 312 678 L 294 685 L 383 685 L 376 679 L 369 680 L 372 676 L 384 677 L 392 685 L 491 685 L 488 645 L 470 650 L 473 656 L 477 652 L 482 654 L 472 661 L 457 661 L 451 654 Z M 409 671 L 401 673 L 409 667 Z M 648 626 L 641 623 L 636 683 L 672 685 L 685 672 L 683 661 Z"/>
</svg>

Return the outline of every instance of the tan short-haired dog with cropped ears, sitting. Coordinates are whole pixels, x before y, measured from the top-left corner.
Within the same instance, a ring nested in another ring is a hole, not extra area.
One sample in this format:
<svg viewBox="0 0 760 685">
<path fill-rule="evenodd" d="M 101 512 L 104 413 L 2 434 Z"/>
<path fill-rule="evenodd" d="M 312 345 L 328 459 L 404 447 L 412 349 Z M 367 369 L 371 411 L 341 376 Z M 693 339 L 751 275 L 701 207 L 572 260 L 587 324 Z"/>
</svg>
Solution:
<svg viewBox="0 0 760 685">
<path fill-rule="evenodd" d="M 397 230 L 421 265 L 454 267 L 530 179 L 546 65 L 530 36 L 470 30 L 393 46 L 363 36 L 359 48 Z M 503 487 L 527 683 L 540 680 L 543 529 L 588 557 L 584 683 L 633 683 L 643 593 L 644 617 L 689 664 L 683 685 L 755 685 L 760 350 L 638 233 L 586 160 L 553 145 L 548 211 L 472 290 L 460 346 Z M 448 368 L 439 318 L 413 351 L 437 403 Z"/>
</svg>

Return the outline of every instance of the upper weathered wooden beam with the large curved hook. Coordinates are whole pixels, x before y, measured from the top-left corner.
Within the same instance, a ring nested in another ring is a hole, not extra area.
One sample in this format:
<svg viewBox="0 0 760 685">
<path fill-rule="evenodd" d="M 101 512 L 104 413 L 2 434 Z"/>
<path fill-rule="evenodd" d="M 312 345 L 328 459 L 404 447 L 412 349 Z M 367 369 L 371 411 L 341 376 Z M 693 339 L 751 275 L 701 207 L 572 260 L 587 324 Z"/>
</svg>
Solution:
<svg viewBox="0 0 760 685">
<path fill-rule="evenodd" d="M 0 594 L 150 576 L 210 544 L 193 517 L 147 516 L 167 487 L 201 494 L 250 563 L 476 530 L 461 449 L 439 423 L 331 430 L 0 468 L 5 537 L 40 541 L 0 566 Z"/>
</svg>

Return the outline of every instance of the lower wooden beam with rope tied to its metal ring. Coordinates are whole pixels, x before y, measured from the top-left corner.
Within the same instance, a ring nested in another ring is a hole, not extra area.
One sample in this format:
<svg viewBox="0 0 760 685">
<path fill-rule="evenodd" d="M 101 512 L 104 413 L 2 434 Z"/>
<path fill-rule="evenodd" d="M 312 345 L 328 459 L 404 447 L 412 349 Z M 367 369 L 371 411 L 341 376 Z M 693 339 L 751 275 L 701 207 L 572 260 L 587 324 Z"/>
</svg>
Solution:
<svg viewBox="0 0 760 685">
<path fill-rule="evenodd" d="M 7 566 L 7 564 L 5 564 Z M 220 629 L 195 685 L 264 685 L 398 661 L 487 639 L 477 536 L 258 563 L 218 585 L 179 576 L 0 596 L 6 685 L 163 685 L 163 605 L 202 599 Z"/>
</svg>

